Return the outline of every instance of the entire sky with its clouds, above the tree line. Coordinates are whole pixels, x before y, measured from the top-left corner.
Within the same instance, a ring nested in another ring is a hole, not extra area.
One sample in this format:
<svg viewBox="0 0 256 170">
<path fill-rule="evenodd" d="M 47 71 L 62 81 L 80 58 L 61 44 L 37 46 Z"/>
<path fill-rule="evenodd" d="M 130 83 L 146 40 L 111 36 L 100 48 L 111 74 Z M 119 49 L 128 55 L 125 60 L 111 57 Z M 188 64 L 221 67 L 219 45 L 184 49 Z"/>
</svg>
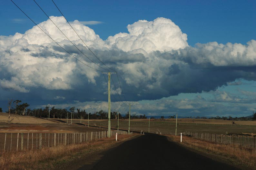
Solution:
<svg viewBox="0 0 256 170">
<path fill-rule="evenodd" d="M 14 2 L 56 41 L 75 51 L 33 0 Z M 61 16 L 51 0 L 36 2 L 48 15 Z M 133 113 L 247 116 L 256 112 L 255 1 L 54 2 L 68 21 L 80 21 L 74 24 L 86 43 L 119 71 L 123 92 L 134 103 Z M 5 110 L 11 98 L 32 108 L 72 105 L 88 112 L 107 110 L 101 74 L 55 48 L 11 1 L 2 2 L 0 19 L 4 23 L 0 28 L 0 107 Z M 63 18 L 53 20 L 91 55 Z M 155 26 L 148 35 L 137 32 L 144 23 Z M 13 36 L 16 32 L 21 34 Z M 149 41 L 143 44 L 144 40 Z M 72 54 L 81 58 L 77 52 Z M 116 76 L 113 80 L 119 85 Z M 126 112 L 121 89 L 112 88 L 118 101 L 112 97 L 112 110 Z"/>
</svg>

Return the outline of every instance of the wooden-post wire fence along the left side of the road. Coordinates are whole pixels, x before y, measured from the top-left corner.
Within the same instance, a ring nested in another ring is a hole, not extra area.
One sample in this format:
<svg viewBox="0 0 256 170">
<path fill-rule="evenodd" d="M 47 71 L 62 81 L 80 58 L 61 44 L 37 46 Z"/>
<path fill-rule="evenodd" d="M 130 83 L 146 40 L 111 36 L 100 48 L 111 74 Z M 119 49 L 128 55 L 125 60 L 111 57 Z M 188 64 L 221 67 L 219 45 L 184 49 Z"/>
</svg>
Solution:
<svg viewBox="0 0 256 170">
<path fill-rule="evenodd" d="M 127 135 L 127 131 L 111 130 Z M 82 143 L 107 137 L 107 131 L 91 131 L 77 133 L 0 133 L 0 153 L 25 149 L 42 149 L 56 146 Z"/>
</svg>

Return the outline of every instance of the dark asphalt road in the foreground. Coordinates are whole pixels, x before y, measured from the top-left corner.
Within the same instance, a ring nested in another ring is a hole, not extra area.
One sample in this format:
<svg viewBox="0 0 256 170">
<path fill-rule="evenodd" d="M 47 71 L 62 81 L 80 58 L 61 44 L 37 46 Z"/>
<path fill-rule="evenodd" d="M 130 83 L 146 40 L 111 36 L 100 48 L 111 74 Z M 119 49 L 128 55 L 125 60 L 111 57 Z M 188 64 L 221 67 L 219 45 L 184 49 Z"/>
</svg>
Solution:
<svg viewBox="0 0 256 170">
<path fill-rule="evenodd" d="M 94 165 L 79 170 L 240 170 L 169 141 L 165 136 L 143 135 L 112 148 Z"/>
</svg>

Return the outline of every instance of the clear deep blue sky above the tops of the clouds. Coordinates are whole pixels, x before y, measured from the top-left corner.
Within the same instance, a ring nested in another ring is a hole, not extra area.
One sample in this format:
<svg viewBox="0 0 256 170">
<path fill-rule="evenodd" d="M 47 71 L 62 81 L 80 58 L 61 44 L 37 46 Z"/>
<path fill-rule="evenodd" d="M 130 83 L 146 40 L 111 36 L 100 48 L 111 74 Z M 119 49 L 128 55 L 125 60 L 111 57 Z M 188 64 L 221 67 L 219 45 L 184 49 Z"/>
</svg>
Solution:
<svg viewBox="0 0 256 170">
<path fill-rule="evenodd" d="M 32 15 L 36 22 L 45 21 L 32 0 L 14 1 Z M 50 0 L 37 1 L 50 15 L 60 16 Z M 90 27 L 105 40 L 119 32 L 127 32 L 126 26 L 138 20 L 153 21 L 157 17 L 171 19 L 182 32 L 188 34 L 188 43 L 245 44 L 255 39 L 256 2 L 251 1 L 54 1 L 69 21 L 101 21 Z M 34 24 L 11 1 L 0 6 L 0 18 L 5 27 L 1 35 L 24 33 Z M 14 22 L 20 19 L 21 23 Z"/>
</svg>

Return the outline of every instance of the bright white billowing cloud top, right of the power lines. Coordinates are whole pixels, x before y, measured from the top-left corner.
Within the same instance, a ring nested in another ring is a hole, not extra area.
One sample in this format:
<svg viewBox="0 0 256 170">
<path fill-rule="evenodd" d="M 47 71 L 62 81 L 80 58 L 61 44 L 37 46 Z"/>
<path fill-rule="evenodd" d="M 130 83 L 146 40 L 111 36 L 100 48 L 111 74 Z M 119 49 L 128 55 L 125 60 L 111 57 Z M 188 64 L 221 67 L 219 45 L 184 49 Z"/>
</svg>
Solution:
<svg viewBox="0 0 256 170">
<path fill-rule="evenodd" d="M 187 34 L 170 19 L 157 18 L 154 21 L 139 20 L 127 26 L 129 34 L 119 33 L 108 37 L 106 42 L 123 51 L 143 49 L 170 51 L 188 46 Z"/>
</svg>

